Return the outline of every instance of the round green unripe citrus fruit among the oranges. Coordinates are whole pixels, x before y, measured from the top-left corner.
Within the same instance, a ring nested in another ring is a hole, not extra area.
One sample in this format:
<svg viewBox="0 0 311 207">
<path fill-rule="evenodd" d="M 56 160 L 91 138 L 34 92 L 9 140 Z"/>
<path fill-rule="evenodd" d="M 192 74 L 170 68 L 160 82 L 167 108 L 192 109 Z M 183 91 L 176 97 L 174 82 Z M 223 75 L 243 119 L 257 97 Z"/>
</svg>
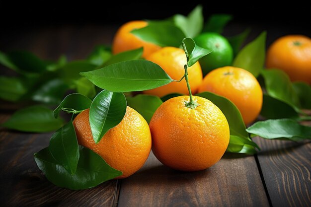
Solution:
<svg viewBox="0 0 311 207">
<path fill-rule="evenodd" d="M 213 51 L 199 61 L 204 75 L 212 69 L 231 65 L 233 49 L 224 36 L 213 32 L 207 32 L 194 38 L 194 41 L 201 48 Z"/>
</svg>

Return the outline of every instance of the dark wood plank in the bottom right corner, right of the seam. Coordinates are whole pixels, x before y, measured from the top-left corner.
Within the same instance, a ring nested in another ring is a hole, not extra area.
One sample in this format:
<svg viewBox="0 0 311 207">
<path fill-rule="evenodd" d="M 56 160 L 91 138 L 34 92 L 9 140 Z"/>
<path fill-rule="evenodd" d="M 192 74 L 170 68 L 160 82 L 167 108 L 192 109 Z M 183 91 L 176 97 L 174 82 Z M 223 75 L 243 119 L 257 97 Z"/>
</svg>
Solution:
<svg viewBox="0 0 311 207">
<path fill-rule="evenodd" d="M 273 207 L 311 207 L 311 141 L 254 138 Z"/>
</svg>

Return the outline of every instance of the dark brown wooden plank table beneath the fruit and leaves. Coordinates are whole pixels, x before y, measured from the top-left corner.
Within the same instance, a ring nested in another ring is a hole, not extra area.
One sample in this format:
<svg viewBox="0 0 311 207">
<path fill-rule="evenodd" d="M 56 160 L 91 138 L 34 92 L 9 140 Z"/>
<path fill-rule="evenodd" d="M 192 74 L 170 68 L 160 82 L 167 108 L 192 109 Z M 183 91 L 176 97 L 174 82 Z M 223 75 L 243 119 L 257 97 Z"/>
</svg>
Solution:
<svg viewBox="0 0 311 207">
<path fill-rule="evenodd" d="M 54 60 L 66 54 L 73 60 L 84 58 L 94 45 L 109 44 L 115 28 L 93 25 L 47 27 L 20 34 L 12 31 L 15 36 L 1 37 L 0 46 L 31 50 Z M 9 108 L 1 105 L 0 123 L 12 114 Z M 0 128 L 1 206 L 311 207 L 311 141 L 254 138 L 262 149 L 257 155 L 226 153 L 213 167 L 192 173 L 171 170 L 151 154 L 144 167 L 129 178 L 72 191 L 51 184 L 36 166 L 33 154 L 46 147 L 50 137 L 51 133 Z"/>
</svg>

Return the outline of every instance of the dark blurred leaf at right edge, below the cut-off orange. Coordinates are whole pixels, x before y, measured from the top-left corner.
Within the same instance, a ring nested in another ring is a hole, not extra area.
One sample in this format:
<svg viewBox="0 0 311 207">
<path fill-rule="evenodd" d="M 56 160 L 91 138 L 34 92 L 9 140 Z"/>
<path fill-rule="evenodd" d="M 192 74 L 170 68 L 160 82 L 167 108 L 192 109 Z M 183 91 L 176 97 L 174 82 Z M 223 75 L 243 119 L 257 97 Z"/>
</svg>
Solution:
<svg viewBox="0 0 311 207">
<path fill-rule="evenodd" d="M 294 90 L 303 109 L 311 109 L 311 86 L 305 82 L 294 82 Z"/>
</svg>

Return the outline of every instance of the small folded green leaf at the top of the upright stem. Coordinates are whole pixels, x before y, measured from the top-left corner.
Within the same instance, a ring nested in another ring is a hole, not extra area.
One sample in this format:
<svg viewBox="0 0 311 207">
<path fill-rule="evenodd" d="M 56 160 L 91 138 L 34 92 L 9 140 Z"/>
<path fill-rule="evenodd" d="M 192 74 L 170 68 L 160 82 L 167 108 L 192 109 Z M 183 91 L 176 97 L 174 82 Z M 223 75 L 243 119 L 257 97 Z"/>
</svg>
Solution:
<svg viewBox="0 0 311 207">
<path fill-rule="evenodd" d="M 197 46 L 193 39 L 185 38 L 182 40 L 182 46 L 187 56 L 187 66 L 193 66 L 202 57 L 210 54 L 212 51 Z"/>
</svg>

